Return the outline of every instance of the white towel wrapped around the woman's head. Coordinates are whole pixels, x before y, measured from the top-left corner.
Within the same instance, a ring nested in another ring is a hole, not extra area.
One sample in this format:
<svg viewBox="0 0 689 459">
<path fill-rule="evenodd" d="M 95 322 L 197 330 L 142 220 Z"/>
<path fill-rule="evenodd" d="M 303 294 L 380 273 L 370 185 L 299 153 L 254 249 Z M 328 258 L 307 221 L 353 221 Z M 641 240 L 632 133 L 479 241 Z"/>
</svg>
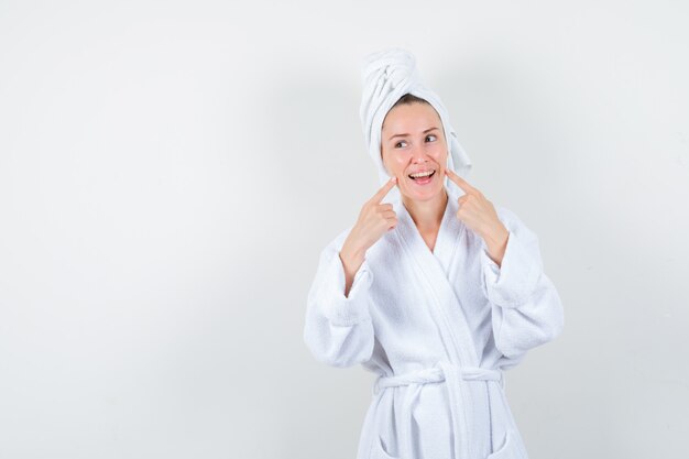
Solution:
<svg viewBox="0 0 689 459">
<path fill-rule="evenodd" d="M 409 52 L 390 48 L 370 54 L 362 68 L 363 95 L 361 98 L 361 124 L 369 154 L 379 171 L 381 185 L 390 179 L 381 157 L 381 129 L 383 120 L 393 105 L 405 94 L 428 101 L 440 116 L 448 145 L 447 167 L 466 177 L 471 171 L 471 161 L 459 144 L 447 109 L 440 98 L 424 86 L 416 69 L 416 59 Z M 446 178 L 446 186 L 450 181 Z M 396 188 L 394 189 L 396 192 Z M 460 193 L 463 194 L 463 192 Z"/>
</svg>

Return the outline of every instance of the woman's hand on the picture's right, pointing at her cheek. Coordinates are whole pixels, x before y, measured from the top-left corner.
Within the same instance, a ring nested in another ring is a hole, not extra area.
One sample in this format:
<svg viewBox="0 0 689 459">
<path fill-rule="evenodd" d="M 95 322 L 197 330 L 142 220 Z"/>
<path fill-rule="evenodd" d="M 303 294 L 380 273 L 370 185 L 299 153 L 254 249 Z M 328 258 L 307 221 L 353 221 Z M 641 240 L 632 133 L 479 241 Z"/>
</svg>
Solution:
<svg viewBox="0 0 689 459">
<path fill-rule="evenodd" d="M 452 171 L 446 168 L 445 174 L 464 192 L 457 199 L 457 218 L 485 241 L 490 258 L 500 265 L 507 248 L 510 231 L 497 218 L 493 203 Z"/>
</svg>

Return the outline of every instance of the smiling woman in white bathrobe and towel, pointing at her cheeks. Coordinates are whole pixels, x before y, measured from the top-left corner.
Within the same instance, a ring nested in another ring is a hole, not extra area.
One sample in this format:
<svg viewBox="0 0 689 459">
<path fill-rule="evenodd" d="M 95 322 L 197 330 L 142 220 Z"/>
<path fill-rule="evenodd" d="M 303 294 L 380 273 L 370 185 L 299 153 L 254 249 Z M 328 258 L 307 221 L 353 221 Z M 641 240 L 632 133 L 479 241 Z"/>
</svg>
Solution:
<svg viewBox="0 0 689 459">
<path fill-rule="evenodd" d="M 319 361 L 379 375 L 358 459 L 526 459 L 502 370 L 564 325 L 538 240 L 455 172 L 412 55 L 369 57 L 361 113 L 384 182 L 321 252 L 304 328 Z"/>
</svg>

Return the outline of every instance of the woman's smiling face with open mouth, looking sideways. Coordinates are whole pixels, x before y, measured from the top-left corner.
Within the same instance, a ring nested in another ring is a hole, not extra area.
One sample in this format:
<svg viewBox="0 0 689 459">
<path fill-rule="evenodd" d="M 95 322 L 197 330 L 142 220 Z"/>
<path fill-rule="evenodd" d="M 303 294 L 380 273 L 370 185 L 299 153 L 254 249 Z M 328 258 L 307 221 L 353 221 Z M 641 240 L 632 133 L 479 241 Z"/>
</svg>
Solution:
<svg viewBox="0 0 689 459">
<path fill-rule="evenodd" d="M 414 102 L 390 110 L 383 121 L 381 149 L 383 164 L 397 177 L 403 196 L 429 200 L 442 190 L 447 143 L 440 117 L 430 105 Z"/>
</svg>

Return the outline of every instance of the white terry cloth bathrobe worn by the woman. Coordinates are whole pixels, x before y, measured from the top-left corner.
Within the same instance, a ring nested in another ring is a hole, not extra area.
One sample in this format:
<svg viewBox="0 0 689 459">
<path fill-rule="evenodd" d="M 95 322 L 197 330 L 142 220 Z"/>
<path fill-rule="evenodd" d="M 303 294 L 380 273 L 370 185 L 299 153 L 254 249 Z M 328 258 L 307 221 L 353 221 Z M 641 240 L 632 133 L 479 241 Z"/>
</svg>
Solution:
<svg viewBox="0 0 689 459">
<path fill-rule="evenodd" d="M 304 340 L 317 360 L 378 374 L 358 459 L 527 459 L 503 370 L 562 330 L 536 234 L 494 206 L 510 236 L 501 266 L 448 204 L 431 252 L 400 199 L 398 223 L 373 247 L 344 296 L 339 258 L 320 254 Z"/>
</svg>

